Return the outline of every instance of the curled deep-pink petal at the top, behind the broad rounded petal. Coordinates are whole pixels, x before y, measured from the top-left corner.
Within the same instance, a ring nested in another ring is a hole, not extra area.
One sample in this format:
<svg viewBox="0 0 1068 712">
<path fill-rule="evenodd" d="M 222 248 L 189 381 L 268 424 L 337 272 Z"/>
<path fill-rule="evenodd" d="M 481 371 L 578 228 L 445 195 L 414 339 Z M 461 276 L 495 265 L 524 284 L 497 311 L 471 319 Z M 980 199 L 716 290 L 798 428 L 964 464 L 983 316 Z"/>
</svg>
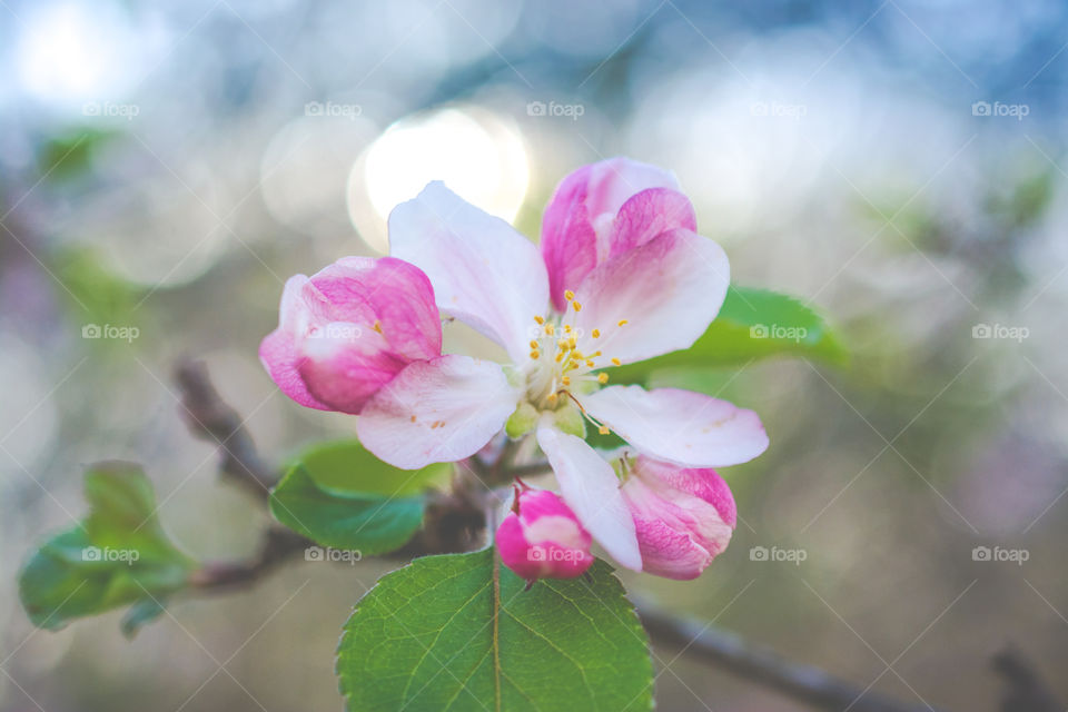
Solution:
<svg viewBox="0 0 1068 712">
<path fill-rule="evenodd" d="M 609 230 L 627 198 L 646 188 L 678 189 L 663 169 L 629 158 L 583 166 L 565 177 L 542 218 L 542 257 L 553 305 L 563 312 L 565 289 L 575 289 L 609 256 Z"/>
</svg>

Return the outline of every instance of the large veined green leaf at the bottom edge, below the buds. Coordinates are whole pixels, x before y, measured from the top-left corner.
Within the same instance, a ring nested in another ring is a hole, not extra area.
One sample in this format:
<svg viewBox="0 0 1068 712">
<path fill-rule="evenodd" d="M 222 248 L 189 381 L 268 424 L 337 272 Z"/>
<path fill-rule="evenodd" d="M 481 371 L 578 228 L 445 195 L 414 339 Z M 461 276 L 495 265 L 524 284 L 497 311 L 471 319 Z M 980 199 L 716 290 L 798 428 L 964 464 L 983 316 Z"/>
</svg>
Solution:
<svg viewBox="0 0 1068 712">
<path fill-rule="evenodd" d="M 383 576 L 338 647 L 347 710 L 652 709 L 647 640 L 607 564 L 524 586 L 492 550 Z"/>
</svg>

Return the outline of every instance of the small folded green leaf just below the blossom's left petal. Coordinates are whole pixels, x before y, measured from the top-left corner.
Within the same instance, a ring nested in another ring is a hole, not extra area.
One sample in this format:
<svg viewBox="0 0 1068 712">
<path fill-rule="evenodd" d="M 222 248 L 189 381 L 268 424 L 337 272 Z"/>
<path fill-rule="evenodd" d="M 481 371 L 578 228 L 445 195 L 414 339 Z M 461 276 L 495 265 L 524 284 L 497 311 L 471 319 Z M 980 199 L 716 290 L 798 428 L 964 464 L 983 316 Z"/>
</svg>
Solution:
<svg viewBox="0 0 1068 712">
<path fill-rule="evenodd" d="M 323 546 L 384 554 L 418 531 L 426 487 L 451 473 L 448 464 L 398 469 L 356 441 L 327 443 L 298 458 L 271 492 L 270 511 Z"/>
</svg>

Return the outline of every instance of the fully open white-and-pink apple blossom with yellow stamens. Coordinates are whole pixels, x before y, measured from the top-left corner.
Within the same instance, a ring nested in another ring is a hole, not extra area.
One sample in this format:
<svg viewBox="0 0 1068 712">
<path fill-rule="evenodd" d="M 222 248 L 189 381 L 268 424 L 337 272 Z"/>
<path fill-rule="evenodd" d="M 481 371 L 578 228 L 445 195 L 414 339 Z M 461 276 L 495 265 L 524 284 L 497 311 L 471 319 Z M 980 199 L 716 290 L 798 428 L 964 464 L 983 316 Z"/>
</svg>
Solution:
<svg viewBox="0 0 1068 712">
<path fill-rule="evenodd" d="M 642 551 L 644 520 L 635 522 L 632 510 L 649 497 L 632 485 L 627 500 L 612 465 L 582 436 L 589 421 L 640 455 L 688 471 L 748 462 L 768 446 L 758 416 L 725 400 L 602 387 L 612 366 L 692 346 L 726 294 L 726 256 L 694 231 L 676 187 L 671 174 L 622 158 L 581 168 L 546 209 L 541 254 L 441 182 L 397 206 L 390 254 L 426 274 L 443 314 L 496 342 L 512 363 L 443 356 L 408 364 L 363 406 L 356 429 L 364 445 L 414 469 L 468 457 L 502 428 L 513 437 L 533 431 L 593 538 L 625 567 L 674 573 Z M 706 552 L 722 540 L 702 536 Z"/>
</svg>

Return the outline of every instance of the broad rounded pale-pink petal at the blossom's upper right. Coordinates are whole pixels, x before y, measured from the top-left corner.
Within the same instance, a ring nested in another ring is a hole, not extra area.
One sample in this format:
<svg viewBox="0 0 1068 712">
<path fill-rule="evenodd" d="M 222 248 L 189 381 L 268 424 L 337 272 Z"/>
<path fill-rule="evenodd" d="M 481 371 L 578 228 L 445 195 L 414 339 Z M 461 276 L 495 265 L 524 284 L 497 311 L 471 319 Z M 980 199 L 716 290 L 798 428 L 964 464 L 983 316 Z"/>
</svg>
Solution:
<svg viewBox="0 0 1068 712">
<path fill-rule="evenodd" d="M 573 324 L 580 334 L 601 333 L 582 350 L 629 364 L 690 348 L 715 318 L 730 265 L 723 249 L 689 230 L 663 233 L 610 258 L 583 280 Z M 625 320 L 624 326 L 620 323 Z"/>
</svg>

